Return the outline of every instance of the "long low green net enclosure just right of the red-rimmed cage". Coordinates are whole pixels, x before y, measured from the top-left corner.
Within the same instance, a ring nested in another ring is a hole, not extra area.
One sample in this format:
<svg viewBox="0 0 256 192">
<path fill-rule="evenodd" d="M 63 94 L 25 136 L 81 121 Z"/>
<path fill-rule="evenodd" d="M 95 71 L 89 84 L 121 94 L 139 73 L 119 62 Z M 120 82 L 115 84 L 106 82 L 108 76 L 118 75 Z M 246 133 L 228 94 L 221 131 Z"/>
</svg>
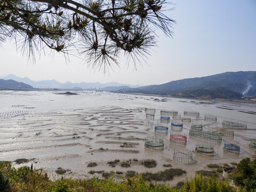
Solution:
<svg viewBox="0 0 256 192">
<path fill-rule="evenodd" d="M 204 140 L 221 142 L 221 136 L 215 132 L 190 129 L 189 135 L 196 138 L 204 139 Z"/>
</svg>

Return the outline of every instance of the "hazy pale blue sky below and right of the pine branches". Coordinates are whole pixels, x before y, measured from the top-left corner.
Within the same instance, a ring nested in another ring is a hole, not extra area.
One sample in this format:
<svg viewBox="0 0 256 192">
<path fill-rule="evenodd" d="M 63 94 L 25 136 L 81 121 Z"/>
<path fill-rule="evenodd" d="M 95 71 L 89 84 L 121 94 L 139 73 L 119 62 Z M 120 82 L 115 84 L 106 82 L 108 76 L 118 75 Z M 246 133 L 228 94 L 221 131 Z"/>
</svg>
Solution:
<svg viewBox="0 0 256 192">
<path fill-rule="evenodd" d="M 169 2 L 169 1 L 167 1 Z M 0 76 L 14 74 L 35 81 L 55 79 L 60 82 L 119 82 L 127 84 L 162 84 L 173 80 L 202 77 L 225 71 L 256 70 L 255 0 L 175 0 L 174 11 L 166 12 L 177 21 L 174 38 L 158 31 L 158 47 L 151 51 L 148 65 L 137 70 L 114 67 L 109 74 L 87 68 L 76 58 L 66 63 L 62 55 L 46 53 L 36 64 L 28 62 L 6 42 L 0 47 Z"/>
</svg>

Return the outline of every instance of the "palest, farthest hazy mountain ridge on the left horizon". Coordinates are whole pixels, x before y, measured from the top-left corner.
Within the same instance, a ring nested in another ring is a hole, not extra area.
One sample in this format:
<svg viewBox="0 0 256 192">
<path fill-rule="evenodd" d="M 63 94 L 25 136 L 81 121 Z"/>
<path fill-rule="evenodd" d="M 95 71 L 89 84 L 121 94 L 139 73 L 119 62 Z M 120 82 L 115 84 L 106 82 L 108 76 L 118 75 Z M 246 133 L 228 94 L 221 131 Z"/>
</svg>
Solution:
<svg viewBox="0 0 256 192">
<path fill-rule="evenodd" d="M 33 81 L 29 79 L 28 77 L 17 77 L 13 74 L 7 75 L 5 77 L 0 77 L 0 79 L 12 79 L 17 82 L 22 82 L 29 84 L 33 87 L 38 87 L 38 86 L 43 86 L 43 87 L 54 87 L 54 88 L 65 88 L 65 89 L 102 89 L 104 87 L 118 87 L 121 86 L 119 89 L 122 89 L 122 86 L 128 86 L 129 88 L 133 87 L 139 87 L 140 85 L 129 85 L 129 84 L 122 84 L 122 83 L 117 83 L 117 82 L 109 82 L 109 83 L 71 83 L 71 82 L 66 82 L 66 83 L 60 83 L 55 80 L 45 80 L 45 81 Z M 102 89 L 103 90 L 103 89 Z M 109 91 L 109 90 L 108 90 Z M 116 91 L 116 88 L 114 90 L 110 91 Z"/>
</svg>

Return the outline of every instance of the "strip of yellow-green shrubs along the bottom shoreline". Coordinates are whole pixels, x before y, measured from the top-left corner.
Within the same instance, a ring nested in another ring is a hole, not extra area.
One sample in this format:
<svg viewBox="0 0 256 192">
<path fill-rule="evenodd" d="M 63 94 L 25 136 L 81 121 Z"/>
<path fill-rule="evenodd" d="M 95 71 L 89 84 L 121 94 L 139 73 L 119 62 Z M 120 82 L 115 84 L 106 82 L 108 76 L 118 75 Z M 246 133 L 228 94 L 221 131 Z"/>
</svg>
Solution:
<svg viewBox="0 0 256 192">
<path fill-rule="evenodd" d="M 150 183 L 147 180 L 167 181 L 185 173 L 180 169 L 169 169 L 157 173 L 143 173 L 134 175 L 134 171 L 127 171 L 130 177 L 116 181 L 114 172 L 106 172 L 105 179 L 60 179 L 52 181 L 47 174 L 40 171 L 31 172 L 29 167 L 20 167 L 18 170 L 11 166 L 11 163 L 0 162 L 0 182 L 7 185 L 1 188 L 4 192 L 226 192 L 229 189 L 228 182 L 221 182 L 218 179 L 207 179 L 202 175 L 195 175 L 191 181 L 186 180 L 182 187 L 182 182 L 177 188 L 171 189 L 168 185 Z M 99 171 L 101 173 L 102 171 Z M 105 173 L 105 172 L 102 172 Z M 126 174 L 126 176 L 127 176 Z M 134 175 L 134 176 L 133 176 Z M 133 176 L 133 177 L 132 177 Z M 10 182 L 11 185 L 10 185 Z M 11 187 L 10 187 L 11 186 Z"/>
</svg>

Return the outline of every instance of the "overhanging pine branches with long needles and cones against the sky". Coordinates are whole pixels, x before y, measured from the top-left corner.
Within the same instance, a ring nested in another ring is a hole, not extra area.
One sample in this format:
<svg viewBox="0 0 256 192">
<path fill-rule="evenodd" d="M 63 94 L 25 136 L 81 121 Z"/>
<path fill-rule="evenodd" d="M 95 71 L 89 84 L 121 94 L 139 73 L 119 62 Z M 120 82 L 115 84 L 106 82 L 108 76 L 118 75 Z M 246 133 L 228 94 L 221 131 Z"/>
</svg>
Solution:
<svg viewBox="0 0 256 192">
<path fill-rule="evenodd" d="M 35 60 L 45 47 L 78 52 L 106 71 L 123 50 L 133 61 L 156 45 L 155 29 L 172 36 L 165 0 L 0 0 L 0 40 L 15 39 Z M 170 10 L 170 9 L 169 9 Z M 130 59 L 129 58 L 129 59 Z M 134 62 L 135 64 L 135 62 Z"/>
</svg>

